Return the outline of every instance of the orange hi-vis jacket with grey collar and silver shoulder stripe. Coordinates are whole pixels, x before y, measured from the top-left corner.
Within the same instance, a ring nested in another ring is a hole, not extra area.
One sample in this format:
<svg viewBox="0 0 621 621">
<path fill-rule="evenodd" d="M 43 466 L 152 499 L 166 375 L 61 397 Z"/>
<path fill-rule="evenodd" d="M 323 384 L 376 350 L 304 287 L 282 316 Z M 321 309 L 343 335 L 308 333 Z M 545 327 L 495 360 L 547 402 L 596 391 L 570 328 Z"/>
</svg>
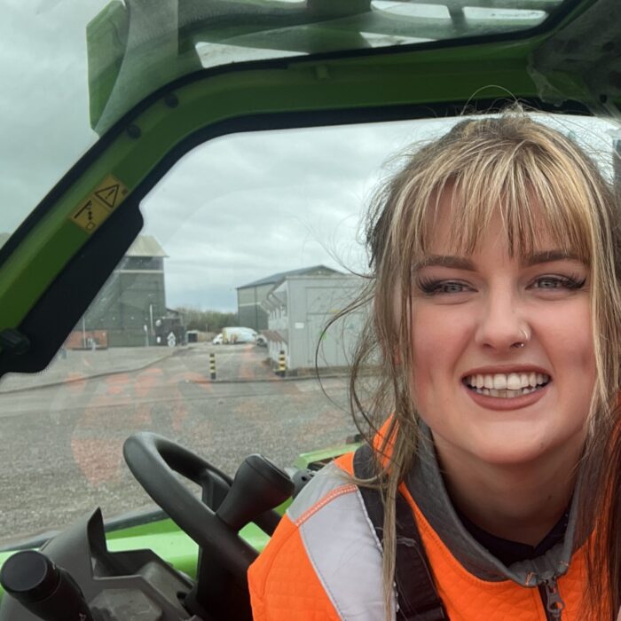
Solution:
<svg viewBox="0 0 621 621">
<path fill-rule="evenodd" d="M 435 452 L 425 444 L 400 491 L 412 507 L 451 621 L 589 619 L 581 609 L 584 548 L 572 549 L 578 494 L 562 542 L 536 559 L 507 567 L 464 529 Z M 381 544 L 358 486 L 349 480 L 352 473 L 353 454 L 342 456 L 323 468 L 287 509 L 248 570 L 255 621 L 386 618 Z M 548 604 L 562 609 L 561 616 L 546 612 Z"/>
</svg>

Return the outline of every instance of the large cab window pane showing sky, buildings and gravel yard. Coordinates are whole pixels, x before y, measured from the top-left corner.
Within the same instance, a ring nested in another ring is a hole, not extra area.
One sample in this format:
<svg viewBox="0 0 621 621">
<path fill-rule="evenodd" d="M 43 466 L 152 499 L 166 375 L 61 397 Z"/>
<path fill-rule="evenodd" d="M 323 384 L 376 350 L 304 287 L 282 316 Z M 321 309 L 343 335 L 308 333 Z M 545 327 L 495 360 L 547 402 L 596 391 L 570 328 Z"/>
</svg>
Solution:
<svg viewBox="0 0 621 621">
<path fill-rule="evenodd" d="M 366 310 L 361 222 L 391 159 L 456 119 L 217 138 L 153 188 L 145 227 L 51 365 L 0 381 L 0 546 L 154 508 L 122 460 L 151 430 L 232 475 L 344 444 Z M 612 126 L 549 117 L 613 174 Z M 318 349 L 316 361 L 315 351 Z M 318 365 L 321 384 L 315 377 Z"/>
</svg>

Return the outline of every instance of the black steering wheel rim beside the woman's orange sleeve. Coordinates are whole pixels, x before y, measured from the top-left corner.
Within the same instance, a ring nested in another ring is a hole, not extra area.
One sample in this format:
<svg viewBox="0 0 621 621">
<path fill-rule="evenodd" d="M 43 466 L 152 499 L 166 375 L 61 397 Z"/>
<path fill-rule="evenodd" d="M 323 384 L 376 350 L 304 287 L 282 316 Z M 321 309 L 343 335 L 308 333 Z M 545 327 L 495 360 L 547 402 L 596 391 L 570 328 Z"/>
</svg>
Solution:
<svg viewBox="0 0 621 621">
<path fill-rule="evenodd" d="M 245 582 L 248 567 L 257 556 L 255 549 L 232 531 L 214 508 L 196 498 L 174 473 L 201 486 L 210 477 L 220 477 L 230 487 L 231 477 L 196 453 L 149 431 L 130 436 L 123 444 L 123 456 L 138 483 L 170 519 L 201 550 L 207 550 L 232 576 Z"/>
</svg>

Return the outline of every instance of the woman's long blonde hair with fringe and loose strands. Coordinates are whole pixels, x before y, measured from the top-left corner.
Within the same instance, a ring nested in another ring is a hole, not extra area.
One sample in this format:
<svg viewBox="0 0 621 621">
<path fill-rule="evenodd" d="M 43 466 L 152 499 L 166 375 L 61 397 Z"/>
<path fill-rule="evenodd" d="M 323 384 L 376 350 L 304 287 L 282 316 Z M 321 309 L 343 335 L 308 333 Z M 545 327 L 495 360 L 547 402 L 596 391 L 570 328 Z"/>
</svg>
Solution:
<svg viewBox="0 0 621 621">
<path fill-rule="evenodd" d="M 597 379 L 587 444 L 601 443 L 601 431 L 611 428 L 619 389 L 619 220 L 612 190 L 586 153 L 572 139 L 533 121 L 514 106 L 493 118 L 459 122 L 444 137 L 409 156 L 381 187 L 369 212 L 366 240 L 372 274 L 365 294 L 354 306 L 372 303 L 373 312 L 358 342 L 350 381 L 354 419 L 370 444 L 393 413 L 382 429 L 383 439 L 376 444 L 379 459 L 374 482 L 380 485 L 385 504 L 387 618 L 394 605 L 395 498 L 398 485 L 413 466 L 419 441 L 419 416 L 411 394 L 415 334 L 410 334 L 407 320 L 412 266 L 427 254 L 438 202 L 449 187 L 453 202 L 450 235 L 457 253 L 472 253 L 485 224 L 499 214 L 511 255 L 528 254 L 537 247 L 537 222 L 557 248 L 577 254 L 589 266 Z M 363 370 L 377 368 L 378 357 L 379 382 L 369 394 Z M 593 459 L 586 464 L 586 472 L 590 480 L 599 481 L 601 468 L 589 449 L 587 462 L 589 454 Z M 581 503 L 586 507 L 582 536 L 592 528 L 594 515 L 588 510 L 598 506 L 600 489 L 599 484 L 585 486 L 589 499 Z"/>
</svg>

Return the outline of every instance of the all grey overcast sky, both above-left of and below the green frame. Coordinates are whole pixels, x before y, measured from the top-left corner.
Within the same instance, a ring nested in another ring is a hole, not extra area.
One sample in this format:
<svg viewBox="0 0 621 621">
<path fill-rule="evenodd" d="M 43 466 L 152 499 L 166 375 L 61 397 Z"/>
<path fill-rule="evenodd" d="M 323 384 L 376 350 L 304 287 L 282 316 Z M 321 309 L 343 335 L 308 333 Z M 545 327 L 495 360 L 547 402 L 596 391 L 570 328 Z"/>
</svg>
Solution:
<svg viewBox="0 0 621 621">
<path fill-rule="evenodd" d="M 12 232 L 94 144 L 85 27 L 107 0 L 4 0 L 0 20 L 0 232 Z M 609 162 L 609 126 L 562 122 Z M 218 138 L 189 153 L 143 202 L 166 259 L 169 307 L 235 310 L 235 288 L 324 263 L 360 269 L 360 216 L 383 162 L 436 135 L 399 122 Z M 444 125 L 444 129 L 447 127 Z"/>
</svg>

